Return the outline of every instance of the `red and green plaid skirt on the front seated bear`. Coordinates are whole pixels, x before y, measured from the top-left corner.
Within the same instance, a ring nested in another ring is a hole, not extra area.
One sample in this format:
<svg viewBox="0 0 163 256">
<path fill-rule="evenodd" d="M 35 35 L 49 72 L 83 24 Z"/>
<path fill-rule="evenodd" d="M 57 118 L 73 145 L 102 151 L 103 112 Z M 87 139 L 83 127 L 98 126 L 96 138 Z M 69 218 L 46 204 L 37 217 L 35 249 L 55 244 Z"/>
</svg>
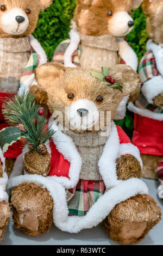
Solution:
<svg viewBox="0 0 163 256">
<path fill-rule="evenodd" d="M 84 216 L 105 193 L 102 180 L 79 180 L 76 187 L 67 190 L 69 216 Z"/>
</svg>

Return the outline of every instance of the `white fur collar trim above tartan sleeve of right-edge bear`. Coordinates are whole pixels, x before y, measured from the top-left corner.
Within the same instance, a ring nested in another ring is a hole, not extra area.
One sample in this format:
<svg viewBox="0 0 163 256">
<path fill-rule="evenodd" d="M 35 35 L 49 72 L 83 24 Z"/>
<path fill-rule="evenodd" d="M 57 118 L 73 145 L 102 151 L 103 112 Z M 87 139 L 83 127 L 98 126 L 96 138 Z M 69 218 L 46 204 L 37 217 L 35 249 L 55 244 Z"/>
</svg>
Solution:
<svg viewBox="0 0 163 256">
<path fill-rule="evenodd" d="M 147 51 L 152 51 L 155 57 L 156 67 L 163 76 L 163 48 L 156 45 L 151 39 L 148 40 L 146 45 Z"/>
</svg>

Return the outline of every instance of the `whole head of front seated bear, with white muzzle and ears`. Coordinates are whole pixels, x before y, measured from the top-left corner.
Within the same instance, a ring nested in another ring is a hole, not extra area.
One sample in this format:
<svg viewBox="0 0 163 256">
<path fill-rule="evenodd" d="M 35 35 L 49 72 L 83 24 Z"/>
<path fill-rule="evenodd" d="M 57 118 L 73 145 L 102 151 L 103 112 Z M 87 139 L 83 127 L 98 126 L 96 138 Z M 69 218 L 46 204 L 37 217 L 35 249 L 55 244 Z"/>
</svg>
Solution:
<svg viewBox="0 0 163 256">
<path fill-rule="evenodd" d="M 99 131 L 108 126 L 123 97 L 139 86 L 139 76 L 129 66 L 116 65 L 109 69 L 109 75 L 117 83 L 123 83 L 123 93 L 82 68 L 47 63 L 35 70 L 36 81 L 47 93 L 53 117 L 78 132 Z"/>
</svg>

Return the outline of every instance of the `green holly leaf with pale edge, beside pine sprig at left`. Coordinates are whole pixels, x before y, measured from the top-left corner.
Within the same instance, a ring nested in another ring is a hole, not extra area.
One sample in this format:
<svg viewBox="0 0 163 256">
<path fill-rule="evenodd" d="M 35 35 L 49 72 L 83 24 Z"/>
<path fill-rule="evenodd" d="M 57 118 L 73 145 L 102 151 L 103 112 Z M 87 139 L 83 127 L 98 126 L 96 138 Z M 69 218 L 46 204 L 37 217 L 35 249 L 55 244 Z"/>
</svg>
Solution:
<svg viewBox="0 0 163 256">
<path fill-rule="evenodd" d="M 21 139 L 21 132 L 18 127 L 9 126 L 0 131 L 0 147 L 5 153 L 9 146 Z"/>
</svg>

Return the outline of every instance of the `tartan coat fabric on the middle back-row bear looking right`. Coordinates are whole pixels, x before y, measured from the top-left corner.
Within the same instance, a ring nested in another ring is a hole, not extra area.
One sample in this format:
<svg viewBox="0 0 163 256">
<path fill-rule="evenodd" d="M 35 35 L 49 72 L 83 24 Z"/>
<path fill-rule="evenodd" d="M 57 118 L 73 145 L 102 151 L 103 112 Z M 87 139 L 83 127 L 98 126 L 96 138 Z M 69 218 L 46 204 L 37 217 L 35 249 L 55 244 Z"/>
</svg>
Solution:
<svg viewBox="0 0 163 256">
<path fill-rule="evenodd" d="M 67 50 L 68 45 L 70 44 L 70 39 L 67 39 L 65 41 L 62 41 L 57 48 L 55 49 L 52 61 L 53 62 L 59 62 L 61 64 L 64 64 L 64 54 Z M 80 56 L 81 56 L 82 49 L 80 47 L 80 44 L 78 45 L 78 48 L 74 53 L 72 54 L 72 63 L 76 66 L 80 65 Z M 119 63 L 120 64 L 126 64 L 124 60 L 119 56 Z"/>
</svg>

